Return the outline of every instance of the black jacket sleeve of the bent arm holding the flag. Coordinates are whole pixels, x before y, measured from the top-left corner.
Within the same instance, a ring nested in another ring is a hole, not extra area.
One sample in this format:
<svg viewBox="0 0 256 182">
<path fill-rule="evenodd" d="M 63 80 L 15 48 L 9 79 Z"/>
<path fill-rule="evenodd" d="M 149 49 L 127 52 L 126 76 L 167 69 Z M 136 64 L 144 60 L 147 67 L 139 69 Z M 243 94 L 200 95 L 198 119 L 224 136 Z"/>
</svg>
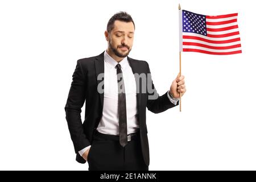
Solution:
<svg viewBox="0 0 256 182">
<path fill-rule="evenodd" d="M 147 72 L 150 73 L 148 76 L 148 84 L 151 83 L 151 86 L 149 87 L 152 88 L 148 90 L 148 86 L 147 86 L 147 109 L 152 111 L 153 113 L 162 113 L 163 111 L 166 111 L 171 107 L 179 105 L 179 101 L 177 102 L 176 105 L 172 104 L 172 102 L 169 100 L 167 96 L 168 92 L 166 92 L 162 96 L 159 96 L 153 84 L 148 63 L 147 63 Z"/>
</svg>

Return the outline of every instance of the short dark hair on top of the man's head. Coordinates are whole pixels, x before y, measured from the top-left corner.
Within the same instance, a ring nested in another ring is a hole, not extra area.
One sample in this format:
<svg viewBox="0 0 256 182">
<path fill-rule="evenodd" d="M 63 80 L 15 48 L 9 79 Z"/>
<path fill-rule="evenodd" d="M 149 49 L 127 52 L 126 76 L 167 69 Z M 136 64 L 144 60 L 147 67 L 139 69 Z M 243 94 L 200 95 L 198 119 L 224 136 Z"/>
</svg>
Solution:
<svg viewBox="0 0 256 182">
<path fill-rule="evenodd" d="M 114 14 L 108 22 L 107 25 L 107 31 L 110 33 L 114 28 L 115 20 L 120 20 L 122 22 L 133 22 L 133 18 L 131 18 L 131 15 L 126 13 L 125 11 L 119 11 L 118 13 Z M 135 24 L 133 22 L 134 30 L 135 30 Z"/>
</svg>

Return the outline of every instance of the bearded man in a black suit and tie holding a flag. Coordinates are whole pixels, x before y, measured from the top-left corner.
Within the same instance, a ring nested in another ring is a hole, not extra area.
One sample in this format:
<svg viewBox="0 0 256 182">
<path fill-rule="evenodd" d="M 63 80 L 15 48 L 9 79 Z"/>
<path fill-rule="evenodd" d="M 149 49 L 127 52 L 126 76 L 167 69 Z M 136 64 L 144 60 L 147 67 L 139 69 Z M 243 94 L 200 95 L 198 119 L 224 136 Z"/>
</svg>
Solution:
<svg viewBox="0 0 256 182">
<path fill-rule="evenodd" d="M 114 14 L 105 31 L 106 51 L 78 60 L 73 73 L 66 119 L 76 160 L 88 161 L 89 170 L 148 170 L 146 107 L 163 112 L 179 105 L 186 91 L 184 76 L 178 75 L 159 96 L 148 63 L 128 57 L 134 31 L 129 14 Z"/>
</svg>

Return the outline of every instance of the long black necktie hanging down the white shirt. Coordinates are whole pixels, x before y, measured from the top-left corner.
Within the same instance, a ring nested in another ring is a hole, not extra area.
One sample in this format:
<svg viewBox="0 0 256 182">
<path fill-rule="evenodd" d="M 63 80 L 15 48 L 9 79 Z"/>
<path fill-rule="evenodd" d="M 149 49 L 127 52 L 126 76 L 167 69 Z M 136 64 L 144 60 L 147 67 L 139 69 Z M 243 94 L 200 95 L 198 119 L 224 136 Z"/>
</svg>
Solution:
<svg viewBox="0 0 256 182">
<path fill-rule="evenodd" d="M 127 144 L 125 83 L 123 82 L 121 65 L 117 64 L 115 68 L 117 68 L 118 83 L 119 142 L 122 147 L 125 147 L 125 145 Z"/>
</svg>

